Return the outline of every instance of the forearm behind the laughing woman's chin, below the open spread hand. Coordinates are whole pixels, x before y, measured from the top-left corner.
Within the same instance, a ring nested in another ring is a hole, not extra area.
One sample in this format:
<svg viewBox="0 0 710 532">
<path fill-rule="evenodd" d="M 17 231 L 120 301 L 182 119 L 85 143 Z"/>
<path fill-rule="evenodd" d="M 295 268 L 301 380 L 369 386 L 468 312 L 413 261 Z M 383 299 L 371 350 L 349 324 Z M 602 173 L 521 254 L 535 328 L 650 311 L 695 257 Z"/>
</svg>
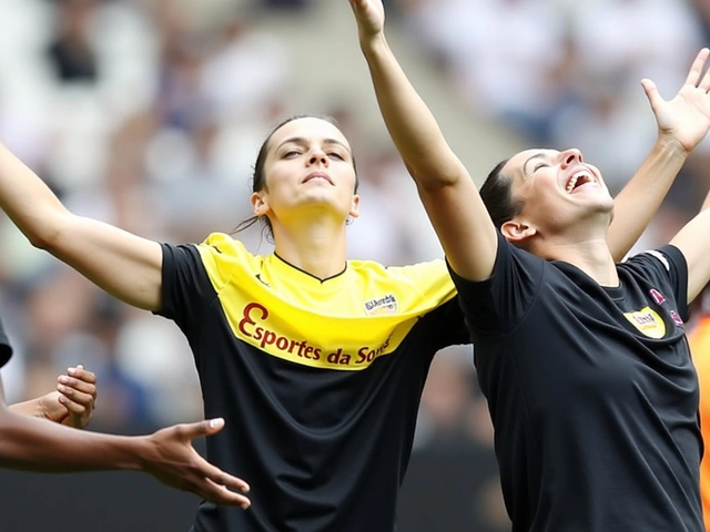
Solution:
<svg viewBox="0 0 710 532">
<path fill-rule="evenodd" d="M 616 197 L 609 248 L 621 260 L 658 211 L 688 152 L 672 139 L 659 137 L 631 181 Z"/>
</svg>

